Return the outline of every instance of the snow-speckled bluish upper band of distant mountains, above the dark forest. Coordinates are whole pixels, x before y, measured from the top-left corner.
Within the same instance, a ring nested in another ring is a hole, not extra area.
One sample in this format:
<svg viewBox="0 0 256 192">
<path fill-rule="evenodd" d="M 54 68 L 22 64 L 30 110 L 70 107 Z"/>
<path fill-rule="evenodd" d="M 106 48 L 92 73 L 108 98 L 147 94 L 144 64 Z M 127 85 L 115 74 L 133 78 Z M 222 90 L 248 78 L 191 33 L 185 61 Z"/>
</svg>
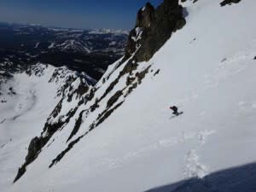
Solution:
<svg viewBox="0 0 256 192">
<path fill-rule="evenodd" d="M 31 55 L 38 55 L 42 51 L 51 51 L 50 49 L 87 53 L 110 49 L 122 54 L 127 37 L 127 32 L 122 30 L 49 28 L 8 23 L 0 23 L 0 33 L 2 49 L 20 49 Z M 113 46 L 113 42 L 116 43 L 115 46 Z M 68 46 L 73 43 L 79 44 L 79 46 Z"/>
</svg>

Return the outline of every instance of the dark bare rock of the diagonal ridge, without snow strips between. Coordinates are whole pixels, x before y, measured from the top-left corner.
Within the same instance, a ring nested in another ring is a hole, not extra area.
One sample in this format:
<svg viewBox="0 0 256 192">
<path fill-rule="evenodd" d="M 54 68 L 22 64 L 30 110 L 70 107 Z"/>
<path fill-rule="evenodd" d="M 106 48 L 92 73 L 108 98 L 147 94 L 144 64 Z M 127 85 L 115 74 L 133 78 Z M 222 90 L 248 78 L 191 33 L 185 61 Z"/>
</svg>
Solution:
<svg viewBox="0 0 256 192">
<path fill-rule="evenodd" d="M 157 9 L 154 9 L 150 3 L 147 3 L 143 9 L 140 9 L 137 14 L 136 27 L 130 32 L 125 49 L 125 58 L 119 63 L 120 66 L 126 61 L 125 67 L 119 72 L 119 76 L 108 85 L 108 88 L 104 94 L 102 94 L 99 99 L 96 98 L 95 102 L 90 105 L 90 108 L 79 113 L 79 119 L 76 119 L 73 131 L 71 132 L 67 141 L 70 141 L 73 136 L 78 133 L 84 120 L 83 115 L 87 117 L 87 113 L 94 112 L 96 108 L 99 108 L 99 103 L 102 101 L 102 99 L 111 94 L 113 88 L 119 83 L 119 79 L 121 79 L 121 77 L 123 77 L 125 74 L 128 74 L 125 87 L 128 89 L 128 91 L 126 92 L 125 96 L 131 94 L 131 91 L 136 89 L 137 86 L 142 83 L 151 67 L 149 66 L 141 72 L 138 71 L 137 73 L 134 73 L 138 67 L 137 62 L 148 61 L 154 55 L 154 53 L 166 43 L 166 40 L 171 37 L 172 32 L 176 32 L 178 29 L 181 29 L 185 23 L 186 21 L 183 18 L 183 7 L 178 4 L 178 0 L 164 0 L 164 3 L 162 3 Z M 61 90 L 62 95 L 64 90 L 67 90 L 68 88 L 69 91 L 73 90 L 73 87 L 71 87 L 73 81 L 74 79 L 70 79 L 71 83 L 64 86 L 63 90 Z M 123 90 L 125 90 L 125 88 Z M 83 84 L 83 81 L 81 80 L 79 88 L 73 91 L 73 93 L 76 93 L 79 99 L 81 99 L 79 106 L 95 98 L 96 89 L 89 90 L 89 87 L 86 84 Z M 76 143 L 79 143 L 81 138 L 86 136 L 90 131 L 94 130 L 98 125 L 101 125 L 102 122 L 108 119 L 114 110 L 118 109 L 123 102 L 125 102 L 122 101 L 117 103 L 119 101 L 119 97 L 125 94 L 125 91 L 123 90 L 116 91 L 113 96 L 109 98 L 107 108 L 102 113 L 98 114 L 97 119 L 95 119 L 94 122 L 89 126 L 89 131 L 85 132 L 84 135 L 69 143 L 67 148 L 58 154 L 55 160 L 52 160 L 49 167 L 54 166 L 57 162 L 59 162 Z M 87 93 L 87 95 L 85 95 L 85 93 Z M 81 96 L 84 97 L 80 98 Z M 73 94 L 69 94 L 68 101 L 72 101 L 72 99 Z M 57 117 L 61 111 L 62 102 L 63 100 L 55 107 L 55 110 L 50 114 L 49 119 L 51 119 L 51 117 Z M 26 166 L 28 166 L 38 157 L 38 154 L 40 154 L 42 148 L 55 134 L 55 131 L 62 130 L 65 125 L 67 125 L 69 120 L 73 118 L 74 114 L 77 113 L 79 106 L 71 109 L 66 114 L 67 119 L 64 121 L 59 119 L 57 122 L 55 122 L 55 124 L 50 124 L 49 119 L 47 120 L 41 136 L 32 139 L 32 142 L 28 148 L 26 161 L 23 166 L 20 167 L 19 172 L 15 177 L 15 181 L 26 172 Z"/>
</svg>

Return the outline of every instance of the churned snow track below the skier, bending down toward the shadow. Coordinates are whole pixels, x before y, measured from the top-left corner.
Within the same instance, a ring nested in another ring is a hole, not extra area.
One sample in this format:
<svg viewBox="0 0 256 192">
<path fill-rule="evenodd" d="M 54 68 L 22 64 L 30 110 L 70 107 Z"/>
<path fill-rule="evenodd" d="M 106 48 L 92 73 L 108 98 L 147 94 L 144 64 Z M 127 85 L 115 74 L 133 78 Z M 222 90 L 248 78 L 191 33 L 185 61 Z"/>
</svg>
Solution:
<svg viewBox="0 0 256 192">
<path fill-rule="evenodd" d="M 164 148 L 172 148 L 175 145 L 182 145 L 188 143 L 191 140 L 196 140 L 198 143 L 197 148 L 189 150 L 185 154 L 185 178 L 188 177 L 205 177 L 207 175 L 207 168 L 204 166 L 200 160 L 199 155 L 197 154 L 197 149 L 201 148 L 207 141 L 207 137 L 215 133 L 215 131 L 198 131 L 198 132 L 182 132 L 180 136 L 169 137 L 160 139 L 157 143 L 139 148 L 135 151 L 126 153 L 120 158 L 102 158 L 99 159 L 96 165 L 102 169 L 102 172 L 108 171 L 119 166 L 124 166 L 129 163 L 130 160 L 134 160 L 138 157 L 142 157 L 144 154 L 151 153 Z"/>
</svg>

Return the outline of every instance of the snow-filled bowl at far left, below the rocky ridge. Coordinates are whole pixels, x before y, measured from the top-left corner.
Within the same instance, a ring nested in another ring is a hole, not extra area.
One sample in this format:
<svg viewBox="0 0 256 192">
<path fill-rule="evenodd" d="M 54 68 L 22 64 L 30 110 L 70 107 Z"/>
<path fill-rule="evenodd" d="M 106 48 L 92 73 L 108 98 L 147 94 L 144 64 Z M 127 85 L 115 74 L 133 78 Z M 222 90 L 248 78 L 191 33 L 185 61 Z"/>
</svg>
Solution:
<svg viewBox="0 0 256 192">
<path fill-rule="evenodd" d="M 0 191 L 13 177 L 32 137 L 40 135 L 68 77 L 76 74 L 66 67 L 37 64 L 32 73 L 15 73 L 2 84 L 0 104 Z M 56 74 L 56 72 L 61 72 Z"/>
</svg>

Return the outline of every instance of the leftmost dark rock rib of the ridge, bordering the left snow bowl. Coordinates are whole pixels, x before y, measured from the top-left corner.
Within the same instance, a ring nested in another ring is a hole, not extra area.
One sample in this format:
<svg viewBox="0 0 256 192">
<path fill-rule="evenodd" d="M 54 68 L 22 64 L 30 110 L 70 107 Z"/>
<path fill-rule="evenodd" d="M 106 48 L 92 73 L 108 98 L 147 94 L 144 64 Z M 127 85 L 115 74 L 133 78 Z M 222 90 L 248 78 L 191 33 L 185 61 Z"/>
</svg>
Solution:
<svg viewBox="0 0 256 192">
<path fill-rule="evenodd" d="M 52 79 L 52 80 L 54 80 L 54 79 Z M 86 82 L 84 82 L 83 79 L 80 79 L 80 83 L 77 86 L 77 88 L 72 89 L 72 90 L 67 89 L 67 88 L 72 87 L 72 83 L 74 82 L 74 79 L 71 81 L 69 81 L 69 80 L 70 79 L 67 79 L 67 81 L 69 83 L 67 84 L 67 82 L 66 82 L 65 87 L 63 89 L 61 88 L 61 93 L 62 93 L 63 97 L 61 98 L 61 101 L 58 102 L 58 104 L 55 106 L 55 109 L 52 111 L 52 113 L 50 113 L 49 118 L 47 119 L 47 121 L 44 125 L 44 129 L 43 129 L 43 132 L 41 133 L 41 136 L 34 137 L 31 141 L 31 143 L 29 144 L 25 163 L 19 168 L 14 182 L 16 182 L 26 172 L 26 166 L 30 165 L 34 160 L 36 160 L 38 158 L 38 154 L 41 153 L 42 148 L 44 148 L 44 146 L 49 142 L 50 138 L 53 137 L 55 132 L 58 130 L 61 130 L 65 125 L 67 125 L 69 123 L 70 119 L 72 119 L 74 114 L 77 112 L 79 106 L 77 106 L 75 108 L 71 108 L 66 113 L 66 115 L 63 116 L 63 118 L 64 118 L 63 120 L 57 119 L 54 123 L 52 123 L 51 119 L 55 119 L 56 117 L 58 117 L 58 115 L 60 115 L 63 102 L 68 102 L 68 100 L 70 98 L 72 99 L 73 96 L 76 96 L 76 99 L 80 99 L 80 101 L 82 101 L 82 103 L 79 102 L 78 105 L 83 104 L 84 98 L 86 98 L 86 102 L 88 102 L 90 99 L 92 99 L 93 94 L 94 94 L 94 89 L 90 90 L 90 86 L 88 84 L 86 84 Z M 66 98 L 65 92 L 67 92 L 67 99 L 65 99 Z M 70 92 L 71 92 L 71 96 L 69 96 Z M 80 98 L 81 96 L 84 96 L 84 98 Z M 82 117 L 77 120 L 74 130 L 71 133 L 71 136 L 68 138 L 68 140 L 71 139 L 77 133 L 77 131 L 79 131 L 79 126 L 81 124 L 81 121 L 82 121 Z"/>
</svg>

